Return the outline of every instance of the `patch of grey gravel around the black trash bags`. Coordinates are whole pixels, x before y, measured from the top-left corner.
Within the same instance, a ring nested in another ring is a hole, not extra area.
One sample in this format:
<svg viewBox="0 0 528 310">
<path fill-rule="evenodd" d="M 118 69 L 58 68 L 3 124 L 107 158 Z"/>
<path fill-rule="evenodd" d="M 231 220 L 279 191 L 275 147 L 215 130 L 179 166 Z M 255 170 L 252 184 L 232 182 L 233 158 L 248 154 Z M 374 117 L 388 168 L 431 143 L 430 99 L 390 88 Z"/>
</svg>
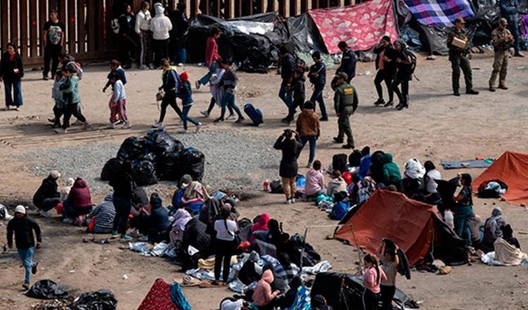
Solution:
<svg viewBox="0 0 528 310">
<path fill-rule="evenodd" d="M 206 155 L 203 182 L 215 190 L 256 190 L 265 179 L 278 178 L 280 151 L 273 149 L 275 137 L 240 132 L 203 132 L 199 135 L 173 135 L 186 147 Z M 124 139 L 123 139 L 124 140 Z M 57 170 L 66 178 L 80 176 L 96 194 L 110 190 L 99 179 L 101 170 L 117 154 L 120 144 L 90 143 L 82 147 L 56 147 L 32 151 L 23 156 L 28 169 L 45 178 Z M 174 182 L 158 182 L 153 189 L 174 187 Z"/>
</svg>

